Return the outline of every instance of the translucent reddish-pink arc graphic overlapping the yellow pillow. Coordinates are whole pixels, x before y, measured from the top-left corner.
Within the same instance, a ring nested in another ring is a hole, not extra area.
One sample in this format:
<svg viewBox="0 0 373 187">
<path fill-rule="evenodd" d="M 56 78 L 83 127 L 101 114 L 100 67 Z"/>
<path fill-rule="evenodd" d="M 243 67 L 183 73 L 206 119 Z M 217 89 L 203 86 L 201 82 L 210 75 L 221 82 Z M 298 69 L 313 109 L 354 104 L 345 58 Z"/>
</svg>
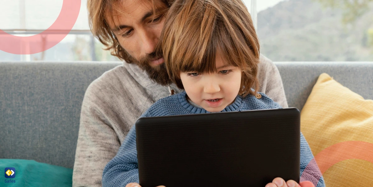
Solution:
<svg viewBox="0 0 373 187">
<path fill-rule="evenodd" d="M 365 141 L 344 141 L 334 144 L 318 153 L 310 163 L 316 163 L 320 168 L 321 174 L 338 162 L 347 159 L 361 159 L 373 163 L 373 144 Z M 314 173 L 308 166 L 304 169 L 300 182 L 309 180 L 309 176 Z M 314 178 L 311 181 L 315 186 L 319 182 L 319 178 Z"/>
</svg>

